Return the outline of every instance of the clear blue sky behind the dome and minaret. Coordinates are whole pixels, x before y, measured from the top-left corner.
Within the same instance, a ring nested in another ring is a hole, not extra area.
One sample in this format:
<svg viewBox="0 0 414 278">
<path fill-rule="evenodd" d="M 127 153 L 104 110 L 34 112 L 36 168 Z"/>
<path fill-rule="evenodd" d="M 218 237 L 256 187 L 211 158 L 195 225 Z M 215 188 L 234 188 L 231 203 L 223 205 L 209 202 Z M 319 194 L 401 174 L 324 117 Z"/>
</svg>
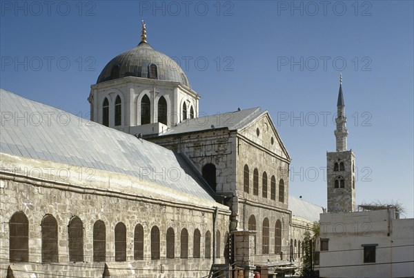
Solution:
<svg viewBox="0 0 414 278">
<path fill-rule="evenodd" d="M 88 117 L 100 70 L 140 41 L 184 68 L 208 115 L 268 110 L 290 194 L 326 207 L 339 72 L 357 203 L 413 217 L 413 1 L 1 1 L 1 88 Z"/>
</svg>

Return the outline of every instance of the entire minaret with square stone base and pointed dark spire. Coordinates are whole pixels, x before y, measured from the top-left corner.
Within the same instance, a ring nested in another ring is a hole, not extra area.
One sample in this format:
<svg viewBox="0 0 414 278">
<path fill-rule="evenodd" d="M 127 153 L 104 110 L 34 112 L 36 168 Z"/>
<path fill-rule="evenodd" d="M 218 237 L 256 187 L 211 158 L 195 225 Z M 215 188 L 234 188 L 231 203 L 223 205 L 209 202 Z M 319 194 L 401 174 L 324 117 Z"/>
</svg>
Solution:
<svg viewBox="0 0 414 278">
<path fill-rule="evenodd" d="M 339 77 L 337 101 L 336 152 L 327 152 L 328 212 L 355 210 L 355 154 L 346 149 L 345 103 L 342 92 L 342 75 Z"/>
</svg>

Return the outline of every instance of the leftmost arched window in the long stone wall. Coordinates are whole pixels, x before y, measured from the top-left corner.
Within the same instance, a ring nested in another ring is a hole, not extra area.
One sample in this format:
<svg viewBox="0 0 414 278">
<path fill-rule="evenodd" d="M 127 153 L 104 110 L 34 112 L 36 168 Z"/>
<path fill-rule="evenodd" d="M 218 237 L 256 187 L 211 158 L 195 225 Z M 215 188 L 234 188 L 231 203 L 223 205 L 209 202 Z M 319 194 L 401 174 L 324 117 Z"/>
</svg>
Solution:
<svg viewBox="0 0 414 278">
<path fill-rule="evenodd" d="M 10 262 L 29 261 L 29 220 L 23 212 L 16 212 L 9 222 Z"/>
</svg>

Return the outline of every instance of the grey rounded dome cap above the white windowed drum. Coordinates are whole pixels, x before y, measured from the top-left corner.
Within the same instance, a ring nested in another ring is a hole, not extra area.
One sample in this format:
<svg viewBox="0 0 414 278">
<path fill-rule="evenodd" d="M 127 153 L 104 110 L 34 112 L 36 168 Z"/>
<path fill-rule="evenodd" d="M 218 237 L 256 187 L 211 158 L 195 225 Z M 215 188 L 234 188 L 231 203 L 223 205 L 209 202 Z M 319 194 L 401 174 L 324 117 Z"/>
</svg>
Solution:
<svg viewBox="0 0 414 278">
<path fill-rule="evenodd" d="M 103 68 L 97 83 L 122 77 L 143 77 L 175 81 L 190 87 L 180 66 L 166 54 L 154 50 L 145 39 L 137 47 L 112 59 Z"/>
</svg>

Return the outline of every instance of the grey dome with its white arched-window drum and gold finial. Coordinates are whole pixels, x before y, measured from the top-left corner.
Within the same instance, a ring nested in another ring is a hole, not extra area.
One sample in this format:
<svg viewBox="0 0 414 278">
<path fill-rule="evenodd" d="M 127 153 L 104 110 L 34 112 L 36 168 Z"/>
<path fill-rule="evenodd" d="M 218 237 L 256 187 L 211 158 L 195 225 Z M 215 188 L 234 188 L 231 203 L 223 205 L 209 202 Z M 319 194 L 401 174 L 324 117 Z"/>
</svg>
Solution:
<svg viewBox="0 0 414 278">
<path fill-rule="evenodd" d="M 200 95 L 179 65 L 147 42 L 119 54 L 90 86 L 90 118 L 131 135 L 159 135 L 198 116 Z"/>
</svg>

